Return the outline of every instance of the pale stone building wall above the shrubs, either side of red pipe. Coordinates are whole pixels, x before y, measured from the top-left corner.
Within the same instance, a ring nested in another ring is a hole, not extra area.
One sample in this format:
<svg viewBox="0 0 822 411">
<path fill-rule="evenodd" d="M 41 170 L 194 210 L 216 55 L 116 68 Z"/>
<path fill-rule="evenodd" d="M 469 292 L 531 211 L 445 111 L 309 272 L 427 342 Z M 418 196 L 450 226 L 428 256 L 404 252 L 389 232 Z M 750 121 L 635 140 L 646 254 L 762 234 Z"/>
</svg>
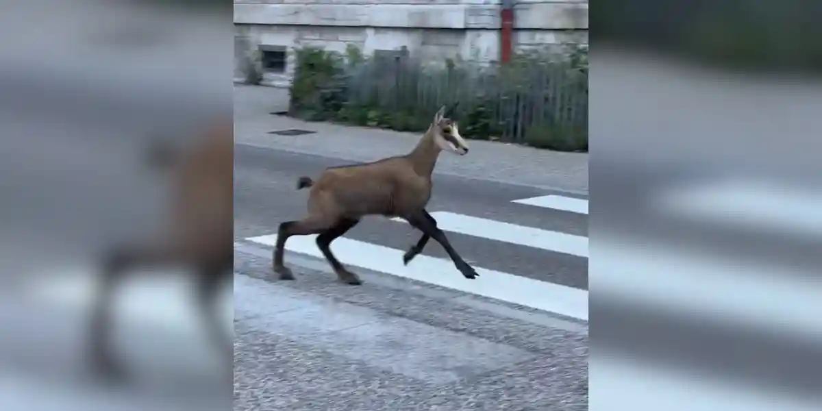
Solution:
<svg viewBox="0 0 822 411">
<path fill-rule="evenodd" d="M 421 58 L 460 55 L 494 61 L 500 54 L 501 0 L 234 0 L 236 55 L 260 45 L 289 49 L 283 72 L 266 72 L 264 84 L 288 85 L 292 47 L 317 45 L 364 53 L 407 47 Z M 584 42 L 588 2 L 518 0 L 515 48 Z M 241 78 L 239 64 L 235 77 Z"/>
</svg>

